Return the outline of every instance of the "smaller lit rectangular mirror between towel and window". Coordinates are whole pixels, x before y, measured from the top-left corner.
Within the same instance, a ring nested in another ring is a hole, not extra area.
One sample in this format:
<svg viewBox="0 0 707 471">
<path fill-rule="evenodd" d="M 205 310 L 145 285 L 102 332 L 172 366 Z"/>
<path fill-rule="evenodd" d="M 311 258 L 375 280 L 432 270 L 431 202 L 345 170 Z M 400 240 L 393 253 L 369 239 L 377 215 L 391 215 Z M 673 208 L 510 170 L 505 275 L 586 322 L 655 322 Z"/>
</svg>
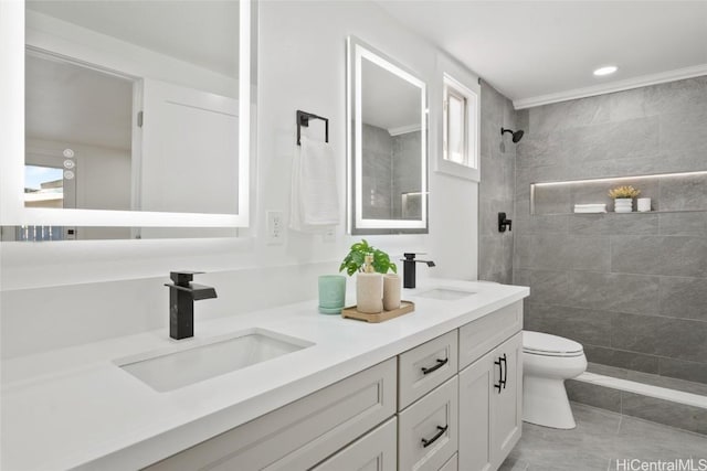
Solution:
<svg viewBox="0 0 707 471">
<path fill-rule="evenodd" d="M 347 65 L 349 233 L 428 233 L 425 83 L 354 36 Z"/>
</svg>

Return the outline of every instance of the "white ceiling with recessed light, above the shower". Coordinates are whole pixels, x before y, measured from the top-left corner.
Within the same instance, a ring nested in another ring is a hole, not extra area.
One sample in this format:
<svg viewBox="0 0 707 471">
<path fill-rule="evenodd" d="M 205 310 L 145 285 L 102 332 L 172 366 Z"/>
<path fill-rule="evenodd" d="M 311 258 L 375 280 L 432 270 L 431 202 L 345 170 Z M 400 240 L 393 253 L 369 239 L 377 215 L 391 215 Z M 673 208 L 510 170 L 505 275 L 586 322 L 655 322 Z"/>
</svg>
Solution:
<svg viewBox="0 0 707 471">
<path fill-rule="evenodd" d="M 517 108 L 707 75 L 706 0 L 379 3 Z"/>
</svg>

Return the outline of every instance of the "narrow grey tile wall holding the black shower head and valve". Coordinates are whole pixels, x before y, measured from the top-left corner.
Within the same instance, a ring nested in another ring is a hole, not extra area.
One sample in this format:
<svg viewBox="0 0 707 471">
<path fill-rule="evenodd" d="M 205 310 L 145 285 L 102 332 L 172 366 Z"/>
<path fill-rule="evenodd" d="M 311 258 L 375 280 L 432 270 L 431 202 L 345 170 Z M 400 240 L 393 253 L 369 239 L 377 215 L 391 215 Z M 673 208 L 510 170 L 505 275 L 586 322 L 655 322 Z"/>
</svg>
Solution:
<svg viewBox="0 0 707 471">
<path fill-rule="evenodd" d="M 498 213 L 514 218 L 516 144 L 500 128 L 516 129 L 511 101 L 482 83 L 481 171 L 478 185 L 478 279 L 510 283 L 514 232 L 498 232 Z"/>
</svg>

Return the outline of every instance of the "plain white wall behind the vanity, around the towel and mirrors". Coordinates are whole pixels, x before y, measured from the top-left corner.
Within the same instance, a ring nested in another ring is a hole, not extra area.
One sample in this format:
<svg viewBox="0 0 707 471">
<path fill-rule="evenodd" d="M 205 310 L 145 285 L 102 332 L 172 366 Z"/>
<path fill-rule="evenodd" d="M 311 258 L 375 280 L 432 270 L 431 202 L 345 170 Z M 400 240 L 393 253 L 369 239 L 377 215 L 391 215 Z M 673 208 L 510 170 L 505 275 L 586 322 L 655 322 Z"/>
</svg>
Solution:
<svg viewBox="0 0 707 471">
<path fill-rule="evenodd" d="M 313 299 L 317 275 L 338 269 L 358 239 L 344 234 L 344 212 L 333 243 L 288 232 L 284 245 L 268 246 L 263 237 L 265 211 L 287 215 L 295 110 L 330 119 L 344 206 L 346 36 L 361 38 L 428 83 L 434 76 L 435 50 L 371 2 L 263 1 L 258 14 L 258 152 L 255 212 L 247 231 L 253 237 L 3 244 L 4 357 L 165 328 L 168 293 L 162 283 L 170 269 L 209 272 L 200 282 L 217 287 L 220 298 L 199 302 L 201 319 Z M 432 158 L 435 128 L 431 126 Z M 428 251 L 437 267 L 421 267 L 421 277 L 475 279 L 476 184 L 431 171 L 430 190 L 430 235 L 367 239 L 393 255 Z M 198 329 L 198 319 L 196 324 Z"/>
</svg>

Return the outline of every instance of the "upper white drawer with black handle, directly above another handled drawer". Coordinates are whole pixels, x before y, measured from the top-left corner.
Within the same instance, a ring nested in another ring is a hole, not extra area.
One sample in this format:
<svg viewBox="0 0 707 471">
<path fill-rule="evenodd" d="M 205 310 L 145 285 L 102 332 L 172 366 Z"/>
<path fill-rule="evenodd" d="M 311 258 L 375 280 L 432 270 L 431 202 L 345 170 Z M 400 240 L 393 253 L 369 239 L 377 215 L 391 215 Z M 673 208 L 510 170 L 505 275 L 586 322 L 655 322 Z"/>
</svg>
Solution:
<svg viewBox="0 0 707 471">
<path fill-rule="evenodd" d="M 398 410 L 402 410 L 458 370 L 456 331 L 449 332 L 398 357 Z"/>
</svg>

